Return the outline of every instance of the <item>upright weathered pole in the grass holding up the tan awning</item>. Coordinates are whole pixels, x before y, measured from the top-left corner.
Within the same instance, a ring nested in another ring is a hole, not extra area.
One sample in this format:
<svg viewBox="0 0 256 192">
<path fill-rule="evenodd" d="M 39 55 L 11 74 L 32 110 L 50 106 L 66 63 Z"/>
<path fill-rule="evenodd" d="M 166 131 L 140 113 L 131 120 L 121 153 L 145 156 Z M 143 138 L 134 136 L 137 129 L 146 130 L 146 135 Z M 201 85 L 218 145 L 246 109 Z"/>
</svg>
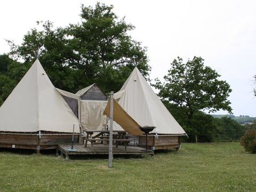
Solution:
<svg viewBox="0 0 256 192">
<path fill-rule="evenodd" d="M 109 149 L 108 149 L 108 167 L 112 167 L 112 159 L 113 159 L 113 113 L 114 113 L 114 100 L 113 100 L 114 92 L 110 92 L 110 126 L 109 126 Z"/>
</svg>

